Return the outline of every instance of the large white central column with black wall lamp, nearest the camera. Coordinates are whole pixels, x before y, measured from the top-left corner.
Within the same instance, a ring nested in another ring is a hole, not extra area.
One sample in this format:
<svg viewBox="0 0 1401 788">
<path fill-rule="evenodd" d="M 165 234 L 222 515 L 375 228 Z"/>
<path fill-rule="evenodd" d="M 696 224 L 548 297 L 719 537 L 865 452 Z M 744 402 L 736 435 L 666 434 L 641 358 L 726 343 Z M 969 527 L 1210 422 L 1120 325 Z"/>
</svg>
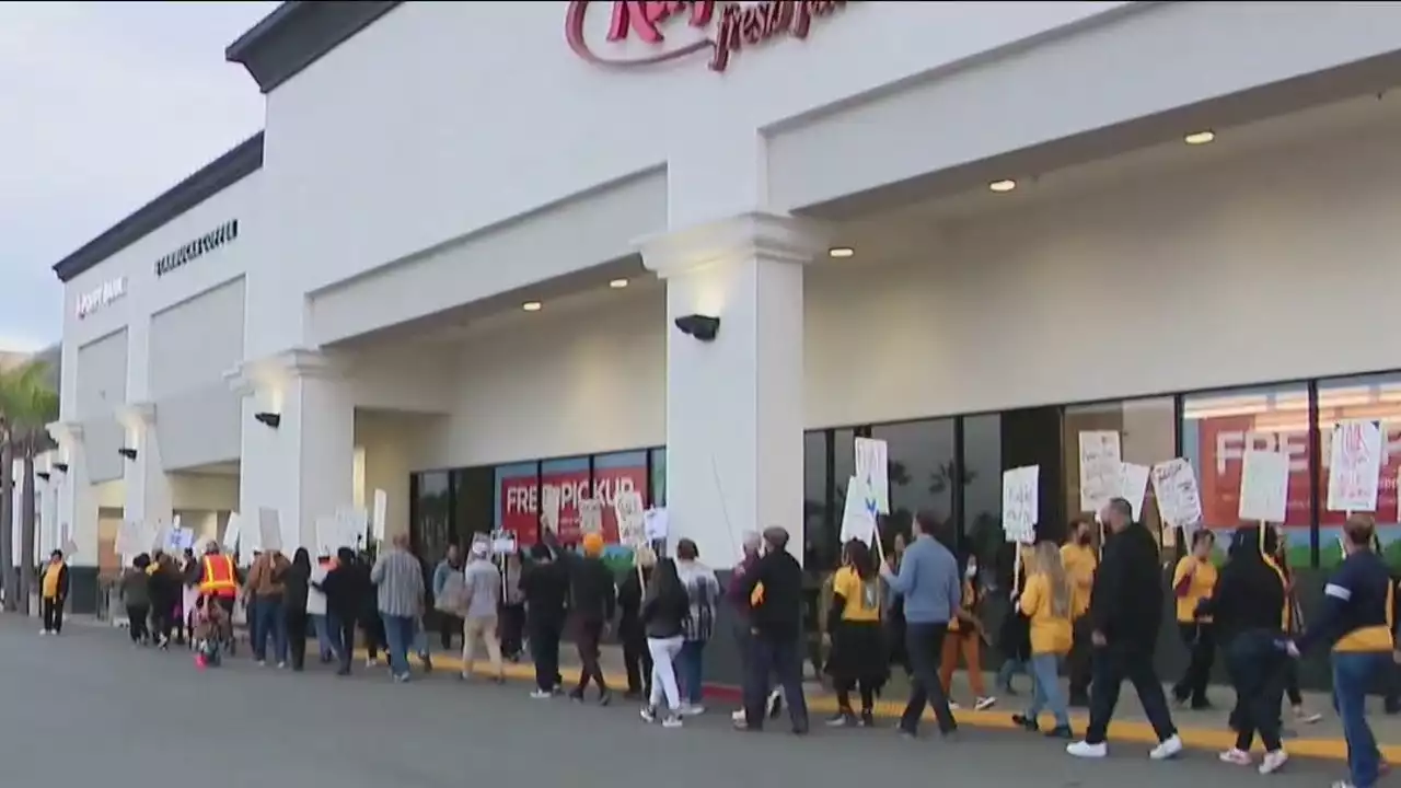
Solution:
<svg viewBox="0 0 1401 788">
<path fill-rule="evenodd" d="M 818 226 L 747 213 L 642 243 L 667 282 L 667 509 L 712 566 L 782 526 L 803 558 L 803 265 Z M 720 318 L 702 342 L 679 317 Z"/>
</svg>

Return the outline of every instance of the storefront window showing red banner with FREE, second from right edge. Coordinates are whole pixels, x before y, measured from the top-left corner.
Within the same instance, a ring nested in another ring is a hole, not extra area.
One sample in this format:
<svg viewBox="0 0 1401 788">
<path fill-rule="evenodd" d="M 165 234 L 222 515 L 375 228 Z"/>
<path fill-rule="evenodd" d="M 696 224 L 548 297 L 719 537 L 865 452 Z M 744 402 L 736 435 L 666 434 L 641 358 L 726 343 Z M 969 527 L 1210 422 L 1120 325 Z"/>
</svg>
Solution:
<svg viewBox="0 0 1401 788">
<path fill-rule="evenodd" d="M 1230 543 L 1240 524 L 1240 480 L 1247 449 L 1289 457 L 1283 534 L 1289 562 L 1307 566 L 1314 517 L 1309 473 L 1309 387 L 1303 383 L 1189 394 L 1182 398 L 1182 456 L 1196 470 L 1203 524 Z"/>
</svg>

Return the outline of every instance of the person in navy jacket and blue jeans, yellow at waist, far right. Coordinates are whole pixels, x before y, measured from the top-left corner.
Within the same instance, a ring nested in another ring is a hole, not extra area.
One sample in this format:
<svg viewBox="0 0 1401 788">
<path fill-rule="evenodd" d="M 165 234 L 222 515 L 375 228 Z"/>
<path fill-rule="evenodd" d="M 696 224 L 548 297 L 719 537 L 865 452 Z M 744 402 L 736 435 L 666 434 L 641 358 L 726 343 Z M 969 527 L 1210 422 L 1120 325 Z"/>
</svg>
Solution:
<svg viewBox="0 0 1401 788">
<path fill-rule="evenodd" d="M 1342 564 L 1324 586 L 1324 603 L 1317 621 L 1296 644 L 1292 656 L 1316 646 L 1332 649 L 1332 693 L 1348 743 L 1346 781 L 1334 788 L 1373 788 L 1384 761 L 1367 724 L 1367 691 L 1401 663 L 1397 651 L 1394 606 L 1397 589 L 1386 562 L 1373 550 L 1376 520 L 1353 515 L 1342 527 Z"/>
</svg>

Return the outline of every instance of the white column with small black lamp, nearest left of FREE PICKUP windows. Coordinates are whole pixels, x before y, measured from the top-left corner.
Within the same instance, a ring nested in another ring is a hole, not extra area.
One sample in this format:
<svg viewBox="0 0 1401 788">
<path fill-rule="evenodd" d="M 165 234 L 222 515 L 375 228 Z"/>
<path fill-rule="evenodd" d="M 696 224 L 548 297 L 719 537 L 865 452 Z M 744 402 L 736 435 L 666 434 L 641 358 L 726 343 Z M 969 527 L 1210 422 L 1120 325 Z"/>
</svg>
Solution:
<svg viewBox="0 0 1401 788">
<path fill-rule="evenodd" d="M 240 508 L 248 527 L 275 508 L 283 547 L 315 544 L 317 517 L 350 506 L 354 398 L 342 367 L 317 351 L 294 349 L 245 363 L 228 376 L 244 395 Z M 276 415 L 276 428 L 258 421 Z"/>
</svg>

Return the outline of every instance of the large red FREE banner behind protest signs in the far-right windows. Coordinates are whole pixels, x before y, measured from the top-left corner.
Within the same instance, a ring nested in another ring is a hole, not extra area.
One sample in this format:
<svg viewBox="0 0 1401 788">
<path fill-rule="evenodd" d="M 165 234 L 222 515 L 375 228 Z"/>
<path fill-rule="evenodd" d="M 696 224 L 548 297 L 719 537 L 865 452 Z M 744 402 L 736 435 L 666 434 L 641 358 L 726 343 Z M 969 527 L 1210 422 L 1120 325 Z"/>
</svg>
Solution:
<svg viewBox="0 0 1401 788">
<path fill-rule="evenodd" d="M 1300 414 L 1300 421 L 1306 416 Z M 1195 422 L 1202 481 L 1202 516 L 1208 526 L 1229 527 L 1238 523 L 1241 461 L 1247 449 L 1282 451 L 1289 456 L 1289 508 L 1285 526 L 1310 526 L 1309 432 L 1306 429 L 1257 429 L 1255 416 L 1217 416 Z M 1325 422 L 1327 423 L 1327 422 Z M 1300 425 L 1302 426 L 1302 425 Z M 1401 473 L 1401 423 L 1384 423 L 1381 470 L 1377 484 L 1377 522 L 1395 523 L 1397 474 Z M 1320 526 L 1341 526 L 1344 512 L 1328 512 L 1328 461 L 1332 429 L 1320 432 L 1318 502 Z"/>
</svg>

